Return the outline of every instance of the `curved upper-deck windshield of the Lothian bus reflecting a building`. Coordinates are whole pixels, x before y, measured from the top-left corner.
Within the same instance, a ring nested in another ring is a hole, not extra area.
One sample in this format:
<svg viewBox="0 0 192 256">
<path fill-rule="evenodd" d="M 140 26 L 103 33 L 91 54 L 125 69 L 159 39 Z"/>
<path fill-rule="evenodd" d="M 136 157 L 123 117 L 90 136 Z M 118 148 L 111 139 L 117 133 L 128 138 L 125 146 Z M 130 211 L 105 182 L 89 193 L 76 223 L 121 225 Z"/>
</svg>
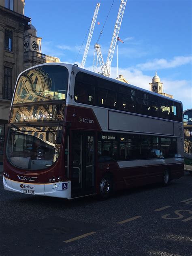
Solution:
<svg viewBox="0 0 192 256">
<path fill-rule="evenodd" d="M 27 70 L 17 82 L 13 104 L 45 100 L 66 100 L 68 70 L 46 65 Z"/>
</svg>

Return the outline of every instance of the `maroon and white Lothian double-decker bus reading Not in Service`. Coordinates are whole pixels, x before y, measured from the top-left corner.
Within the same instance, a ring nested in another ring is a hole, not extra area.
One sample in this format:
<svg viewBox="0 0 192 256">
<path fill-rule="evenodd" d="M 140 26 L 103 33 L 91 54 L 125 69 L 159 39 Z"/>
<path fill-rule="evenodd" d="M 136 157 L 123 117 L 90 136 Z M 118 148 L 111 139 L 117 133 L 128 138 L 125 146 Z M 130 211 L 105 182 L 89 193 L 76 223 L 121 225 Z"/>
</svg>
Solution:
<svg viewBox="0 0 192 256">
<path fill-rule="evenodd" d="M 77 198 L 184 173 L 182 103 L 69 64 L 41 64 L 16 82 L 4 189 Z"/>
</svg>

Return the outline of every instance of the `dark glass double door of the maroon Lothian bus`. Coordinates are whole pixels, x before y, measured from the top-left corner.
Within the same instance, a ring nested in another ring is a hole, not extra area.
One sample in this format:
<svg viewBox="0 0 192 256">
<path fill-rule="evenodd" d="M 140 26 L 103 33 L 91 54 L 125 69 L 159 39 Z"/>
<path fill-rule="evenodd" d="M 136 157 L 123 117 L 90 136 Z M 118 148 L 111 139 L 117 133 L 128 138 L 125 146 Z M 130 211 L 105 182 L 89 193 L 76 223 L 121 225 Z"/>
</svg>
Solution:
<svg viewBox="0 0 192 256">
<path fill-rule="evenodd" d="M 72 132 L 71 198 L 94 194 L 94 133 Z"/>
</svg>

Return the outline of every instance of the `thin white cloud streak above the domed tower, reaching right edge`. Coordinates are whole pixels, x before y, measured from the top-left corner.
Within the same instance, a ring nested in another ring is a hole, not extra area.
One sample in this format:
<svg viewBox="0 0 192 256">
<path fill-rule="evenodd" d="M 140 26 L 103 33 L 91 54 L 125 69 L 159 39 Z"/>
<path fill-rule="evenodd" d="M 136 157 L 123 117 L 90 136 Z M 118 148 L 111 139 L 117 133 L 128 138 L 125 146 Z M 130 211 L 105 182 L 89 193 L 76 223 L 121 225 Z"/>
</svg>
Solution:
<svg viewBox="0 0 192 256">
<path fill-rule="evenodd" d="M 141 70 L 154 70 L 164 68 L 175 68 L 192 62 L 192 56 L 177 56 L 172 60 L 166 59 L 154 59 L 149 62 L 138 64 L 136 67 Z"/>
</svg>

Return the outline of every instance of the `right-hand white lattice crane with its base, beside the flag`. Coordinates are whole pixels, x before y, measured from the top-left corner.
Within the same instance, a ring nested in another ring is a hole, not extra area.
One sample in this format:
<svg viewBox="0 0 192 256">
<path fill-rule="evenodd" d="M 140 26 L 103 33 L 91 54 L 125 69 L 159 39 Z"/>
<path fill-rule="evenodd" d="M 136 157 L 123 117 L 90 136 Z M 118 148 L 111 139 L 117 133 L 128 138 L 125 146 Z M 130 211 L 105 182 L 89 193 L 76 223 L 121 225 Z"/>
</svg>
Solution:
<svg viewBox="0 0 192 256">
<path fill-rule="evenodd" d="M 111 62 L 112 62 L 112 59 L 113 59 L 115 46 L 117 44 L 117 37 L 119 35 L 119 30 L 120 30 L 121 23 L 122 23 L 122 18 L 123 18 L 123 15 L 124 15 L 126 2 L 127 2 L 127 0 L 121 0 L 121 3 L 120 3 L 119 12 L 118 12 L 117 20 L 116 20 L 116 23 L 115 23 L 115 28 L 114 28 L 114 31 L 113 31 L 113 37 L 111 39 L 111 45 L 109 47 L 109 52 L 108 52 L 108 55 L 107 55 L 106 64 L 103 62 L 102 53 L 101 53 L 101 50 L 100 50 L 100 45 L 98 43 L 96 43 L 95 46 L 94 46 L 94 48 L 95 48 L 94 49 L 94 55 L 95 55 L 95 53 L 97 53 L 97 59 L 95 59 L 95 57 L 94 57 L 94 71 L 96 70 L 95 62 L 96 62 L 96 66 L 99 62 L 102 75 L 105 75 L 107 77 L 110 77 L 110 75 L 111 75 Z"/>
</svg>

